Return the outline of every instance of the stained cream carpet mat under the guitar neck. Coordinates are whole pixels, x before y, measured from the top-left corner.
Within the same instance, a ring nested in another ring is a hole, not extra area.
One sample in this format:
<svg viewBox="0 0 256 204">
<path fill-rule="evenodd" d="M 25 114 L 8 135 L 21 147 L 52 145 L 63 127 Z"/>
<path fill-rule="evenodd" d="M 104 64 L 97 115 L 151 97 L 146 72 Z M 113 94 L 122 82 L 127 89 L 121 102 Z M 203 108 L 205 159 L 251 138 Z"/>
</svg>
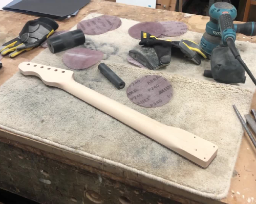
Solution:
<svg viewBox="0 0 256 204">
<path fill-rule="evenodd" d="M 90 14 L 86 19 L 98 15 Z M 174 88 L 172 100 L 157 108 L 137 106 L 127 98 L 126 88 L 117 90 L 105 80 L 98 64 L 87 70 L 74 70 L 75 80 L 159 122 L 216 143 L 218 155 L 207 169 L 185 160 L 67 92 L 48 87 L 37 77 L 25 77 L 20 73 L 0 87 L 0 127 L 100 161 L 103 167 L 113 165 L 125 174 L 129 172 L 127 175 L 133 172 L 138 179 L 147 177 L 150 182 L 146 183 L 145 179 L 140 182 L 154 186 L 157 181 L 165 191 L 175 186 L 205 197 L 225 197 L 243 135 L 232 104 L 236 104 L 242 115 L 248 113 L 252 92 L 243 87 L 251 87 L 250 79 L 244 86 L 210 82 L 202 76 L 203 70 L 210 67 L 208 61 L 197 66 L 175 56 L 168 67 L 157 71 L 132 66 L 126 57 L 140 40 L 129 36 L 128 30 L 138 22 L 121 21 L 120 28 L 114 31 L 86 35 L 86 47 L 103 52 L 105 58 L 101 62 L 127 85 L 145 75 L 161 75 Z M 188 31 L 171 39 L 200 42 L 201 37 L 202 34 Z M 237 45 L 242 58 L 256 74 L 256 45 L 239 41 Z M 53 55 L 46 49 L 33 62 L 69 69 L 62 62 L 63 53 Z"/>
</svg>

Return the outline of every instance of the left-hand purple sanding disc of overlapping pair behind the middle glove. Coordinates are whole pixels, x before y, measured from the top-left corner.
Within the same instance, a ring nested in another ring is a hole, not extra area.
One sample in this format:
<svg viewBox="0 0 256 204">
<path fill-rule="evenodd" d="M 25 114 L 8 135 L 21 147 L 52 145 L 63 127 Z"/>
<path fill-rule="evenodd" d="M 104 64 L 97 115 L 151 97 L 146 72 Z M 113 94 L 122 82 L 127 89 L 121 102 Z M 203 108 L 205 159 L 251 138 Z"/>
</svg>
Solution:
<svg viewBox="0 0 256 204">
<path fill-rule="evenodd" d="M 163 33 L 164 27 L 159 22 L 140 22 L 131 27 L 128 33 L 131 37 L 140 40 L 141 31 L 158 37 Z"/>
</svg>

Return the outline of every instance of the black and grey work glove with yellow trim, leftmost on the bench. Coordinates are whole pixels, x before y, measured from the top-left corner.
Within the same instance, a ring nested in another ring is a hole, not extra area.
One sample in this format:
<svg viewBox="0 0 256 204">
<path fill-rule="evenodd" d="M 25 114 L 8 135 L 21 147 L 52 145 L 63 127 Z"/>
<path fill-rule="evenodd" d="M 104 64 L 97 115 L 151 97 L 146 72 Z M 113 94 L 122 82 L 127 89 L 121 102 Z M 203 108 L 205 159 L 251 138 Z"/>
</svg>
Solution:
<svg viewBox="0 0 256 204">
<path fill-rule="evenodd" d="M 54 20 L 41 17 L 28 21 L 19 36 L 0 47 L 1 55 L 9 54 L 9 57 L 15 57 L 24 51 L 29 51 L 38 47 L 50 35 L 58 29 L 59 25 Z"/>
</svg>

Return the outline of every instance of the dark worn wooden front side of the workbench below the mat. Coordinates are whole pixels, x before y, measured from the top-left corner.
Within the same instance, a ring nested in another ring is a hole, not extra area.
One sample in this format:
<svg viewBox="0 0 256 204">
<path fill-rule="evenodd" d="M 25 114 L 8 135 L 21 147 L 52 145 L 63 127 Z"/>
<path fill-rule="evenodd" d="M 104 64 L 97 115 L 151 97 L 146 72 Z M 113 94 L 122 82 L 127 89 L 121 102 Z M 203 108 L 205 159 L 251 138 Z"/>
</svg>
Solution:
<svg viewBox="0 0 256 204">
<path fill-rule="evenodd" d="M 40 203 L 181 203 L 0 142 L 0 188 Z"/>
</svg>

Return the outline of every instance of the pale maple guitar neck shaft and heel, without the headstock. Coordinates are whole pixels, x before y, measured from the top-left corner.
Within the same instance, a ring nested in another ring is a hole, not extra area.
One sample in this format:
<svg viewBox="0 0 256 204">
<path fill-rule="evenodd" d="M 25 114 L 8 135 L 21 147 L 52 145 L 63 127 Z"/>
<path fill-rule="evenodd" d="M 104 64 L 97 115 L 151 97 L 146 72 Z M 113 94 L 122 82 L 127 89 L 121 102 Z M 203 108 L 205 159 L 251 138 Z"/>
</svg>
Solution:
<svg viewBox="0 0 256 204">
<path fill-rule="evenodd" d="M 217 155 L 217 145 L 178 127 L 162 124 L 74 80 L 61 88 L 202 167 L 207 167 Z"/>
</svg>

